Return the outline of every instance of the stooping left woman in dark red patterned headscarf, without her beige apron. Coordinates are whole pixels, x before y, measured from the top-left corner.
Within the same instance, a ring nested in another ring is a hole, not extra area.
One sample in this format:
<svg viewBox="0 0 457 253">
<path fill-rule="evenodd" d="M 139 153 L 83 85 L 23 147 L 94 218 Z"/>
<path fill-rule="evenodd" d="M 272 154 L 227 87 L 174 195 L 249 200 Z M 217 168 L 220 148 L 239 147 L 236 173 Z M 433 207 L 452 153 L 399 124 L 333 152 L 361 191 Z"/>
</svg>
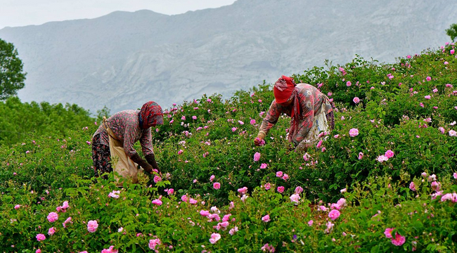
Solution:
<svg viewBox="0 0 457 253">
<path fill-rule="evenodd" d="M 163 124 L 163 112 L 160 105 L 149 101 L 143 105 L 141 110 L 123 110 L 115 113 L 106 119 L 104 124 L 112 131 L 114 135 L 112 137 L 124 143 L 125 153 L 132 161 L 149 173 L 153 170 L 158 172 L 150 127 Z M 92 160 L 94 160 L 96 176 L 112 171 L 108 131 L 104 124 L 98 127 L 92 137 Z M 140 141 L 147 162 L 136 153 L 134 148 L 136 141 Z"/>
</svg>

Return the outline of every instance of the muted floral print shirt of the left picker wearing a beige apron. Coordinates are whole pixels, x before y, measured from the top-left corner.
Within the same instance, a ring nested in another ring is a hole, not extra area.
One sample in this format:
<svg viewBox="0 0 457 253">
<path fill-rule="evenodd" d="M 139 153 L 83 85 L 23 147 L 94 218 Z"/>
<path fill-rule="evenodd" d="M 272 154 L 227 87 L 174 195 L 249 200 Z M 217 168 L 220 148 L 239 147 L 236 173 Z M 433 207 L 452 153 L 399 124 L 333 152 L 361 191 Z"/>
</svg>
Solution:
<svg viewBox="0 0 457 253">
<path fill-rule="evenodd" d="M 124 143 L 125 153 L 131 157 L 136 154 L 134 143 L 140 141 L 143 155 L 153 154 L 153 141 L 148 129 L 142 129 L 139 126 L 139 110 L 123 110 L 117 112 L 106 121 L 108 127 L 115 134 L 115 137 Z M 94 136 L 100 134 L 100 142 L 103 145 L 110 145 L 108 141 L 108 132 L 103 127 L 103 122 L 98 126 Z"/>
</svg>

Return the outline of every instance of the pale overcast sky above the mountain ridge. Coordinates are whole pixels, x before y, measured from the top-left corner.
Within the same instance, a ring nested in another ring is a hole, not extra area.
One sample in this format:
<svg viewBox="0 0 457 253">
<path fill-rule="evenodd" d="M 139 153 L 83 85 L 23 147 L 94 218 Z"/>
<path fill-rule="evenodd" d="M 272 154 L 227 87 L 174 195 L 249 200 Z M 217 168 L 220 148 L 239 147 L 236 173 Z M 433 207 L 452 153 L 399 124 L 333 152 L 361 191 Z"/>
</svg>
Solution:
<svg viewBox="0 0 457 253">
<path fill-rule="evenodd" d="M 150 10 L 168 15 L 217 8 L 236 0 L 0 0 L 0 29 L 49 21 L 97 18 L 113 11 Z"/>
</svg>

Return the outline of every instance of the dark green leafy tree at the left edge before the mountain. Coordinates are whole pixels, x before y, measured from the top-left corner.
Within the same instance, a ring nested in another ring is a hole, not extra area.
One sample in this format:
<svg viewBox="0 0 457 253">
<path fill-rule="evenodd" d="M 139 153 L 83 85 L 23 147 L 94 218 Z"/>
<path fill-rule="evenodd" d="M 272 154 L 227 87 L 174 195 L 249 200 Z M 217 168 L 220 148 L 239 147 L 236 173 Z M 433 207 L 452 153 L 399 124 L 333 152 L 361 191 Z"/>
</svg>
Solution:
<svg viewBox="0 0 457 253">
<path fill-rule="evenodd" d="M 25 75 L 22 60 L 12 43 L 0 39 L 0 100 L 16 95 L 24 88 Z"/>
</svg>

